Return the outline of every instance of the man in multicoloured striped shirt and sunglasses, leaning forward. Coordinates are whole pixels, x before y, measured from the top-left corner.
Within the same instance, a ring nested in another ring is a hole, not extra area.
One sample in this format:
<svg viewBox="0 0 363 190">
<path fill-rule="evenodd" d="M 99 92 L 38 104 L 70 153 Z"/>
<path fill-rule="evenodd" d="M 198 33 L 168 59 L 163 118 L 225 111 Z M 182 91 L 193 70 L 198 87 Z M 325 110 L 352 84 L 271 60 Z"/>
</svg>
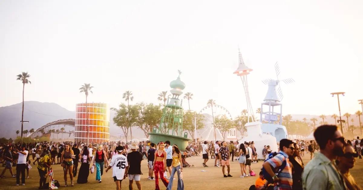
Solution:
<svg viewBox="0 0 363 190">
<path fill-rule="evenodd" d="M 288 139 L 282 139 L 280 141 L 280 152 L 271 159 L 268 159 L 262 165 L 265 170 L 270 174 L 274 181 L 274 190 L 280 188 L 280 190 L 291 190 L 293 185 L 293 177 L 291 166 L 289 162 L 289 156 L 294 153 L 293 141 Z M 286 166 L 279 174 L 275 174 L 275 171 L 279 169 L 283 163 L 286 162 Z"/>
</svg>

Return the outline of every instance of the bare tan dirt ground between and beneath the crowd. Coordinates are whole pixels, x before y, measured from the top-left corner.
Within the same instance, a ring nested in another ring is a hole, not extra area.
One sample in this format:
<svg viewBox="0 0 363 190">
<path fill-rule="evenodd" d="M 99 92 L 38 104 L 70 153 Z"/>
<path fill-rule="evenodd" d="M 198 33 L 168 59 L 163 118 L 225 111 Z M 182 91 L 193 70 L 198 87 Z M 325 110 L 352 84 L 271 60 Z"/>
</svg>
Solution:
<svg viewBox="0 0 363 190">
<path fill-rule="evenodd" d="M 305 155 L 303 157 L 304 163 L 307 163 L 310 160 L 310 157 Z M 256 177 L 248 177 L 248 178 L 240 178 L 241 172 L 240 172 L 240 166 L 239 163 L 234 161 L 231 162 L 231 175 L 233 177 L 224 178 L 222 175 L 221 168 L 219 167 L 213 167 L 214 165 L 214 159 L 209 160 L 207 162 L 207 165 L 209 167 L 203 167 L 202 162 L 203 159 L 201 157 L 191 157 L 187 158 L 187 162 L 191 165 L 194 165 L 194 167 L 188 167 L 183 170 L 183 181 L 184 181 L 184 189 L 185 190 L 207 190 L 207 189 L 223 189 L 223 190 L 240 190 L 240 189 L 248 189 L 250 185 L 253 185 L 254 182 L 257 179 Z M 362 174 L 362 168 L 363 168 L 363 159 L 357 159 L 354 168 L 351 170 L 351 174 L 356 179 L 358 185 L 363 185 L 363 176 Z M 26 179 L 25 186 L 15 186 L 16 179 L 11 178 L 9 171 L 5 173 L 6 178 L 0 179 L 0 189 L 8 190 L 8 189 L 38 189 L 39 184 L 39 174 L 38 170 L 36 169 L 36 165 L 32 165 L 33 169 L 30 170 L 30 177 L 31 179 Z M 89 175 L 88 183 L 86 184 L 77 184 L 77 179 L 74 179 L 74 187 L 62 187 L 64 185 L 64 179 L 63 179 L 63 171 L 60 165 L 53 165 L 54 170 L 54 179 L 58 180 L 61 184 L 60 189 L 116 189 L 115 183 L 113 181 L 113 178 L 111 178 L 112 171 L 110 170 L 108 173 L 104 172 L 102 175 L 102 183 L 97 183 L 95 181 L 95 173 Z M 79 166 L 78 166 L 79 167 Z M 147 160 L 144 159 L 142 161 L 142 179 L 141 184 L 142 188 L 144 190 L 153 190 L 155 189 L 155 181 L 151 181 L 147 179 L 148 169 L 147 169 Z M 252 164 L 252 169 L 256 172 L 258 175 L 258 172 L 260 171 L 262 167 L 262 162 L 258 162 L 257 164 Z M 13 167 L 13 171 L 15 172 L 15 167 Z M 4 169 L 4 167 L 0 167 L 1 170 Z M 204 171 L 202 171 L 204 170 Z M 226 168 L 227 172 L 227 168 Z M 168 174 L 169 176 L 169 174 Z M 48 178 L 49 179 L 49 178 Z M 176 180 L 178 177 L 176 176 Z M 68 183 L 69 178 L 68 178 Z M 129 187 L 129 181 L 124 180 L 122 181 L 121 189 L 127 190 Z M 163 186 L 163 183 L 159 179 L 159 185 L 160 189 L 166 189 L 166 187 Z M 173 182 L 173 189 L 176 189 L 177 182 Z M 134 183 L 134 189 L 137 189 L 136 184 Z"/>
</svg>

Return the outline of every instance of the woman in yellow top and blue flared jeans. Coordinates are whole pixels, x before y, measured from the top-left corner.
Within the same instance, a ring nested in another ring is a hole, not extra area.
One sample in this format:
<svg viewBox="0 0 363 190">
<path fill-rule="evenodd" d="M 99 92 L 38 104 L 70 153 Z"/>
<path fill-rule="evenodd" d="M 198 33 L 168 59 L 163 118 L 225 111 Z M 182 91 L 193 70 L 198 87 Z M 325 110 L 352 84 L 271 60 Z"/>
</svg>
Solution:
<svg viewBox="0 0 363 190">
<path fill-rule="evenodd" d="M 178 174 L 178 190 L 184 190 L 182 171 L 183 171 L 183 163 L 181 162 L 180 151 L 178 149 L 178 146 L 173 145 L 173 163 L 172 163 L 169 185 L 166 188 L 167 190 L 171 190 L 173 186 L 173 178 L 175 172 Z"/>
</svg>

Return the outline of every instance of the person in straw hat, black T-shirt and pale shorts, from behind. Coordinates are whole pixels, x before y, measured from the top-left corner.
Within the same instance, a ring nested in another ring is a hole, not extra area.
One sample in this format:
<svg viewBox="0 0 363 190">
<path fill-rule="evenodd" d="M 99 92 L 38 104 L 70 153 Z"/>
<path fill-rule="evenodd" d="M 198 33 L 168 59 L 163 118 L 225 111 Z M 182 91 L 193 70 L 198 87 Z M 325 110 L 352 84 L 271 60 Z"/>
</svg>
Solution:
<svg viewBox="0 0 363 190">
<path fill-rule="evenodd" d="M 132 183 L 136 182 L 136 186 L 139 190 L 141 190 L 141 161 L 142 161 L 142 153 L 137 151 L 139 146 L 136 143 L 131 143 L 129 146 L 131 152 L 127 155 L 127 162 L 129 163 L 129 170 L 127 174 L 129 175 L 129 189 L 132 190 Z"/>
</svg>

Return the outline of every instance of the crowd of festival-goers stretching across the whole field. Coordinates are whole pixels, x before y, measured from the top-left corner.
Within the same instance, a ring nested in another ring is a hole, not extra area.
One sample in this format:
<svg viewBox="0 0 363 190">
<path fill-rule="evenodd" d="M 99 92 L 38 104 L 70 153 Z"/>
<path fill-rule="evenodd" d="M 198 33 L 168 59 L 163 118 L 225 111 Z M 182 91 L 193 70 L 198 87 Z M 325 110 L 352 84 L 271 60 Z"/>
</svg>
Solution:
<svg viewBox="0 0 363 190">
<path fill-rule="evenodd" d="M 331 125 L 318 127 L 314 137 L 315 141 L 282 139 L 278 142 L 277 151 L 265 145 L 262 149 L 264 159 L 260 160 L 263 162 L 262 168 L 250 189 L 360 189 L 349 170 L 354 167 L 355 158 L 362 158 L 363 139 L 345 140 L 337 127 Z M 209 167 L 208 161 L 213 159 L 212 165 L 221 167 L 225 178 L 233 177 L 230 162 L 236 161 L 240 165 L 240 178 L 246 178 L 256 176 L 251 164 L 259 162 L 257 152 L 261 152 L 257 151 L 253 141 L 189 142 L 185 150 L 179 150 L 178 145 L 170 141 L 45 141 L 8 143 L 0 147 L 0 162 L 4 166 L 0 178 L 5 177 L 9 170 L 10 177 L 16 178 L 16 185 L 25 185 L 26 179 L 31 178 L 29 170 L 36 165 L 40 176 L 39 189 L 48 189 L 47 174 L 52 170 L 52 165 L 59 164 L 64 171 L 63 186 L 74 186 L 75 181 L 87 183 L 90 172 L 95 172 L 95 180 L 101 183 L 106 168 L 105 172 L 112 169 L 117 190 L 121 189 L 121 182 L 126 178 L 129 179 L 129 189 L 133 188 L 135 181 L 136 187 L 141 190 L 141 162 L 146 158 L 148 179 L 155 180 L 155 189 L 160 189 L 160 178 L 166 189 L 170 190 L 177 173 L 177 189 L 183 190 L 183 168 L 191 166 L 187 162 L 188 157 L 202 157 L 203 167 Z M 306 165 L 302 160 L 305 153 L 311 159 Z M 16 166 L 16 172 L 13 166 Z"/>
</svg>

